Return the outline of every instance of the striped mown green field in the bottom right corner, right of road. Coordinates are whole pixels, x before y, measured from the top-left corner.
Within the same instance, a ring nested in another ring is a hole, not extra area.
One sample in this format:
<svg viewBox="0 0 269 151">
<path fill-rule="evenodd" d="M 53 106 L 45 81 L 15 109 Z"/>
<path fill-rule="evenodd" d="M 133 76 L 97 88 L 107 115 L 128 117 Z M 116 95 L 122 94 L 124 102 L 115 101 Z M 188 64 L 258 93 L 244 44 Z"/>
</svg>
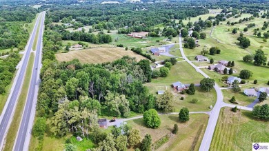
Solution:
<svg viewBox="0 0 269 151">
<path fill-rule="evenodd" d="M 268 122 L 255 119 L 249 111 L 222 108 L 210 150 L 251 150 L 253 142 L 268 142 L 268 138 Z"/>
</svg>

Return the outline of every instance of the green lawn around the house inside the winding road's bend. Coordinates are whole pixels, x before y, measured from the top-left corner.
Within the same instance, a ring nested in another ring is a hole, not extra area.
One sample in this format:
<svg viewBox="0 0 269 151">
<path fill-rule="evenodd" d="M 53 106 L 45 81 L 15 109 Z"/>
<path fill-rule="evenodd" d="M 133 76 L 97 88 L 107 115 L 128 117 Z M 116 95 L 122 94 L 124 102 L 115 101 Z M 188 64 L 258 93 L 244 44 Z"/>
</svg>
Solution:
<svg viewBox="0 0 269 151">
<path fill-rule="evenodd" d="M 174 94 L 174 107 L 175 111 L 179 111 L 181 108 L 186 107 L 190 111 L 208 111 L 210 105 L 214 105 L 217 100 L 217 94 L 215 90 L 210 92 L 203 92 L 200 88 L 196 88 L 195 95 L 179 94 L 171 88 L 172 83 L 181 81 L 182 83 L 200 83 L 203 79 L 202 75 L 195 71 L 192 66 L 187 62 L 179 62 L 175 66 L 172 66 L 168 77 L 159 77 L 158 79 L 152 79 L 151 83 L 146 83 L 150 92 L 157 95 L 158 90 L 168 90 Z M 184 97 L 184 100 L 180 100 Z M 192 99 L 198 99 L 198 103 L 190 103 Z"/>
</svg>

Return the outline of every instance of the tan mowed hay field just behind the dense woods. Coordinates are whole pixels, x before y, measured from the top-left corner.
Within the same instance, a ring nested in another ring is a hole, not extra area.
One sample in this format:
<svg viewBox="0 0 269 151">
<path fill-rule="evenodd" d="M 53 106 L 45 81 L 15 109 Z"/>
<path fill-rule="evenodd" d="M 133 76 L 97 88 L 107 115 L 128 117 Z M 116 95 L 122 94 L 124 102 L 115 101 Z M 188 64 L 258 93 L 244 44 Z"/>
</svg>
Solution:
<svg viewBox="0 0 269 151">
<path fill-rule="evenodd" d="M 104 63 L 121 59 L 123 56 L 135 57 L 137 61 L 145 57 L 125 50 L 124 48 L 90 48 L 86 50 L 74 50 L 68 53 L 55 54 L 58 61 L 72 61 L 79 59 L 81 63 Z"/>
</svg>

